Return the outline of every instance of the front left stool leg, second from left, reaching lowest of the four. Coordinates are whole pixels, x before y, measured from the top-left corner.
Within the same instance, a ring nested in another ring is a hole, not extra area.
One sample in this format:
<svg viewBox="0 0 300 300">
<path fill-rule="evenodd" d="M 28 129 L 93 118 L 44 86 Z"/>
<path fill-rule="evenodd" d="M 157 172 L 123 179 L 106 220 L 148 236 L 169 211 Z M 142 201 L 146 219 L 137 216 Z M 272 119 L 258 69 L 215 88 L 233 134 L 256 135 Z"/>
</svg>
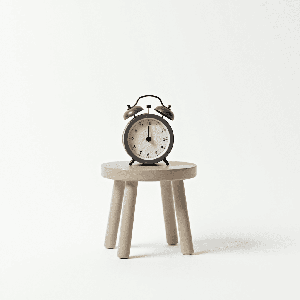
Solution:
<svg viewBox="0 0 300 300">
<path fill-rule="evenodd" d="M 125 182 L 121 231 L 118 246 L 118 257 L 128 258 L 130 254 L 135 202 L 137 199 L 137 181 Z"/>
</svg>

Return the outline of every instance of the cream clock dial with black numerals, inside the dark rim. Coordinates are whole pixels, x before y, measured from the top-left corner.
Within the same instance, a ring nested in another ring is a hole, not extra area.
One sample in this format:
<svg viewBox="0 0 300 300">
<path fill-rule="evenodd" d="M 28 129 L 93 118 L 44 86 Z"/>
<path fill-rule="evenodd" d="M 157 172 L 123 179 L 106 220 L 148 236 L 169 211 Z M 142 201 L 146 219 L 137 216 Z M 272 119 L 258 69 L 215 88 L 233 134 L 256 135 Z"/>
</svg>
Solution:
<svg viewBox="0 0 300 300">
<path fill-rule="evenodd" d="M 138 120 L 129 129 L 128 146 L 134 155 L 143 160 L 153 160 L 163 156 L 169 145 L 170 133 L 157 119 Z"/>
</svg>

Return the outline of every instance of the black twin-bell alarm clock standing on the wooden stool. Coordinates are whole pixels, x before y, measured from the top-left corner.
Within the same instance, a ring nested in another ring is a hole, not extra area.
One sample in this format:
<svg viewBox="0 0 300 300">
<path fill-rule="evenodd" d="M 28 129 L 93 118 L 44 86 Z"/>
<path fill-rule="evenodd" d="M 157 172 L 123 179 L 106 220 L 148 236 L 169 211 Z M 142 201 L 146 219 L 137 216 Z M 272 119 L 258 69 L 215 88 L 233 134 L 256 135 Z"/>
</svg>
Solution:
<svg viewBox="0 0 300 300">
<path fill-rule="evenodd" d="M 173 121 L 174 114 L 170 110 L 171 106 L 166 107 L 161 101 L 161 106 L 154 110 L 162 116 L 151 114 L 151 105 L 147 105 L 148 113 L 136 116 L 143 110 L 142 107 L 137 106 L 137 103 L 144 97 L 155 97 L 161 101 L 161 98 L 157 96 L 144 95 L 137 99 L 133 107 L 127 105 L 128 110 L 124 113 L 124 120 L 134 117 L 126 125 L 122 138 L 124 149 L 132 158 L 129 165 L 135 161 L 148 165 L 164 161 L 165 164 L 169 165 L 166 157 L 172 150 L 174 134 L 164 117 Z"/>
</svg>

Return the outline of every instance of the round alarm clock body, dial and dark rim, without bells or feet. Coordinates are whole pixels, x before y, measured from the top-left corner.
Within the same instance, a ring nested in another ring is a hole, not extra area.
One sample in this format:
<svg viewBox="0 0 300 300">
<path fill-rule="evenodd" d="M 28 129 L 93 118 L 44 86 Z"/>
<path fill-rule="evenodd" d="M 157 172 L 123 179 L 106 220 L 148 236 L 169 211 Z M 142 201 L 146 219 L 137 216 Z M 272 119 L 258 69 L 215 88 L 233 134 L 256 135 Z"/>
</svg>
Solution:
<svg viewBox="0 0 300 300">
<path fill-rule="evenodd" d="M 131 120 L 123 135 L 127 153 L 146 164 L 163 160 L 170 153 L 173 142 L 169 123 L 154 114 L 142 114 Z"/>
</svg>

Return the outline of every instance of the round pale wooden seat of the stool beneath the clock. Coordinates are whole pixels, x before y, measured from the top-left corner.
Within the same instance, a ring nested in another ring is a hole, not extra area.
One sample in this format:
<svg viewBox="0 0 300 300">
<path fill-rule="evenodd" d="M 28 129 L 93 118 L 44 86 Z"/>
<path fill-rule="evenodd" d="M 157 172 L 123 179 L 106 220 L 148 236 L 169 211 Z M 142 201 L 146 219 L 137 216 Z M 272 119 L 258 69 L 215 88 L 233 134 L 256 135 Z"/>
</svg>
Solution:
<svg viewBox="0 0 300 300">
<path fill-rule="evenodd" d="M 157 163 L 155 166 L 139 163 L 129 166 L 129 161 L 114 161 L 101 165 L 101 176 L 122 181 L 184 180 L 196 176 L 196 165 L 182 161 L 169 161 L 169 166 L 164 162 Z"/>
</svg>

